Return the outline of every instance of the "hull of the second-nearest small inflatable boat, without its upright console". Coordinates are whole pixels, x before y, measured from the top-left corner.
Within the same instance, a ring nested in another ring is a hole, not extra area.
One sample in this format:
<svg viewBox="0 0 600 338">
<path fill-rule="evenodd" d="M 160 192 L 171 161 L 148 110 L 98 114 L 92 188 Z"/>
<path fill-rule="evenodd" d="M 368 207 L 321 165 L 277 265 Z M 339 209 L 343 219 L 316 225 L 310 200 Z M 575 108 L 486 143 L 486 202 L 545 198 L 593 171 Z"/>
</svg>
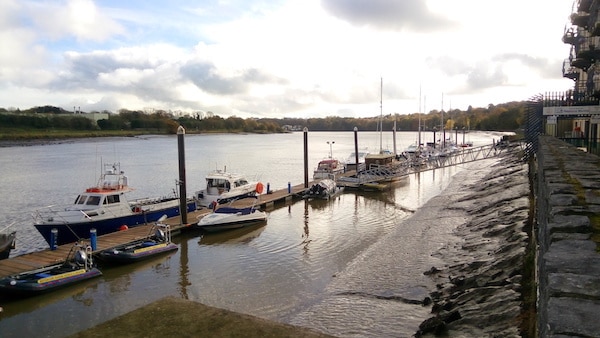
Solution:
<svg viewBox="0 0 600 338">
<path fill-rule="evenodd" d="M 179 246 L 174 243 L 140 242 L 127 248 L 104 250 L 98 258 L 106 263 L 128 264 L 150 259 L 168 252 L 177 251 Z"/>
</svg>

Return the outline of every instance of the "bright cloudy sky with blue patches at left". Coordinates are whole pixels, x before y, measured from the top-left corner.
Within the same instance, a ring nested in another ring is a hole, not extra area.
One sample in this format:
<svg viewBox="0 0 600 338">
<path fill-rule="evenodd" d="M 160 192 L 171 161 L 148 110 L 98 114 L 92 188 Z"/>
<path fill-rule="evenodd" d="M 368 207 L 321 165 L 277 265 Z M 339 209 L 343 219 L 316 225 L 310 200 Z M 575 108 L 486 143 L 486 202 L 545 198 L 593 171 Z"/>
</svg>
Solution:
<svg viewBox="0 0 600 338">
<path fill-rule="evenodd" d="M 570 89 L 566 0 L 0 0 L 0 107 L 371 117 Z M 419 103 L 421 102 L 421 104 Z"/>
</svg>

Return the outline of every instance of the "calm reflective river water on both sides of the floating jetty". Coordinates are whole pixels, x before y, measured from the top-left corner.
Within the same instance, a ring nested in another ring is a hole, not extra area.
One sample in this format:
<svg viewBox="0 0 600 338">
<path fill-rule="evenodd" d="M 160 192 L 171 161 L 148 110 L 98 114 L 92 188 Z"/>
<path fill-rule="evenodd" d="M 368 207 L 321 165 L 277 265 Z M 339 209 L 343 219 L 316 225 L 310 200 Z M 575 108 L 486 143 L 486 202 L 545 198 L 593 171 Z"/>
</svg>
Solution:
<svg viewBox="0 0 600 338">
<path fill-rule="evenodd" d="M 423 134 L 424 142 L 433 135 Z M 452 137 L 452 136 L 451 136 Z M 462 135 L 456 136 L 459 141 Z M 471 132 L 475 146 L 491 144 L 500 133 Z M 381 139 L 381 145 L 380 145 Z M 415 132 L 396 133 L 401 152 L 417 140 Z M 392 149 L 391 132 L 359 132 L 359 148 Z M 268 135 L 186 135 L 187 191 L 204 185 L 205 175 L 227 168 L 257 179 L 272 190 L 304 180 L 303 133 Z M 354 150 L 353 132 L 309 132 L 308 168 L 330 155 L 345 159 Z M 330 154 L 331 153 L 331 154 Z M 131 198 L 168 195 L 176 189 L 178 150 L 175 136 L 98 138 L 47 145 L 0 148 L 0 229 L 17 233 L 19 255 L 47 248 L 32 225 L 36 208 L 70 204 L 95 184 L 101 163 L 120 162 L 136 190 Z M 402 220 L 436 196 L 463 166 L 412 174 L 382 193 L 345 192 L 332 201 L 297 201 L 267 210 L 259 228 L 200 236 L 177 236 L 180 249 L 166 257 L 103 270 L 103 276 L 63 290 L 23 300 L 0 298 L 3 337 L 63 337 L 105 322 L 164 296 L 284 323 L 317 304 L 335 276 L 346 273 L 370 246 L 385 238 Z M 417 240 L 408 236 L 406 241 Z M 416 243 L 405 243 L 415 245 Z M 403 243 L 398 243 L 403 245 Z M 415 272 L 430 268 L 421 257 L 403 257 Z M 411 262 L 410 260 L 414 260 Z M 416 283 L 407 272 L 407 297 L 418 298 L 429 285 Z M 360 282 L 360 276 L 357 282 Z M 335 305 L 331 311 L 335 311 Z M 390 328 L 375 335 L 411 335 L 428 315 L 419 305 L 399 314 L 410 318 L 404 331 Z M 340 305 L 340 309 L 343 307 Z M 385 309 L 382 309 L 382 311 Z M 398 311 L 394 309 L 394 311 Z M 385 312 L 385 311 L 383 311 Z M 176 315 L 176 314 L 174 314 Z M 60 318 L 59 318 L 60 317 Z M 321 323 L 327 326 L 327 322 Z M 331 326 L 335 326 L 331 323 Z M 380 330 L 380 329 L 378 329 Z M 368 328 L 362 334 L 369 335 Z"/>
</svg>

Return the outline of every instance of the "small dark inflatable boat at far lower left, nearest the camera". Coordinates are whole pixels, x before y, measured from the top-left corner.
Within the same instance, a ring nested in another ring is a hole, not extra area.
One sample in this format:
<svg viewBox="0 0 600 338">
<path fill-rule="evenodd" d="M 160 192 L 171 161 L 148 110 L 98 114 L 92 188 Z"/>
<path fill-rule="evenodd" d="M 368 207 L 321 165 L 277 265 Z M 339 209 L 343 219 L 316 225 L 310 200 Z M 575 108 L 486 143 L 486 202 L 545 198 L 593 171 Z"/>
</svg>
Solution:
<svg viewBox="0 0 600 338">
<path fill-rule="evenodd" d="M 35 295 L 101 276 L 92 260 L 92 248 L 77 242 L 65 262 L 0 279 L 0 292 Z"/>
</svg>

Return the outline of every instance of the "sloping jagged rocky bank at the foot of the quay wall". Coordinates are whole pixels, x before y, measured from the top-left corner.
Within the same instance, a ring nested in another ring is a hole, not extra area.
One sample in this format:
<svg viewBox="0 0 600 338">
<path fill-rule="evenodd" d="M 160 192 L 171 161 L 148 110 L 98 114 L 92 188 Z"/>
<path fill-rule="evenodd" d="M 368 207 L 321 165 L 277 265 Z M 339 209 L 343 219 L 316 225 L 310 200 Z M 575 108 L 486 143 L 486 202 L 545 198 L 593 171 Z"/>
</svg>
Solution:
<svg viewBox="0 0 600 338">
<path fill-rule="evenodd" d="M 530 325 L 523 320 L 530 184 L 515 152 L 448 203 L 468 220 L 454 230 L 458 241 L 434 254 L 444 266 L 425 272 L 437 285 L 425 300 L 433 316 L 415 336 L 521 337 Z"/>
</svg>

